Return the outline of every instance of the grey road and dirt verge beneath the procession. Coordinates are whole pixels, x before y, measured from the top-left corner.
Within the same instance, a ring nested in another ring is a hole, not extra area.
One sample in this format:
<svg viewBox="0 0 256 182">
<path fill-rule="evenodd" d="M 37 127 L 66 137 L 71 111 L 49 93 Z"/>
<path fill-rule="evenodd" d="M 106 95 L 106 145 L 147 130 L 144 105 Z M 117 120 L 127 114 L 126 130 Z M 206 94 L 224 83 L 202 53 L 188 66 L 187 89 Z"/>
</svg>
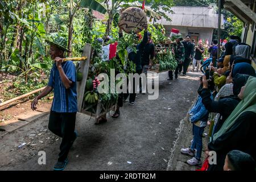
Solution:
<svg viewBox="0 0 256 182">
<path fill-rule="evenodd" d="M 188 72 L 188 76 L 173 81 L 167 81 L 167 76 L 167 72 L 159 74 L 157 100 L 138 94 L 134 106 L 124 103 L 117 119 L 108 118 L 108 122 L 94 125 L 93 118 L 78 113 L 79 137 L 69 152 L 66 170 L 166 170 L 180 121 L 197 96 L 200 73 Z M 27 113 L 26 118 L 23 116 L 26 123 L 9 131 L 8 122 L 0 125 L 7 129 L 0 131 L 0 136 L 6 132 L 0 138 L 0 170 L 52 170 L 61 138 L 47 127 L 50 104 L 42 102 L 38 106 L 43 111 L 36 113 L 38 118 L 33 118 L 30 102 L 20 104 L 21 110 L 15 111 L 15 107 L 2 111 L 13 109 L 17 118 L 19 113 Z M 18 148 L 24 142 L 26 145 Z M 46 165 L 38 164 L 39 151 L 46 152 Z"/>
</svg>

